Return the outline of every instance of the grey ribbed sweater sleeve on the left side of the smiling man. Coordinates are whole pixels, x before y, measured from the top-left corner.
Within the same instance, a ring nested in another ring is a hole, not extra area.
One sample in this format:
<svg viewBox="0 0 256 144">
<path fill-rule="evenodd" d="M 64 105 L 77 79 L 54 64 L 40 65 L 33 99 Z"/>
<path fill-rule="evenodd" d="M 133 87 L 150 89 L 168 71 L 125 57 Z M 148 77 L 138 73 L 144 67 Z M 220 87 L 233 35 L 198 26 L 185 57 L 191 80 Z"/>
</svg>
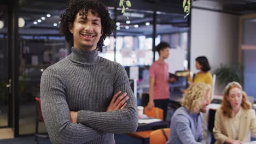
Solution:
<svg viewBox="0 0 256 144">
<path fill-rule="evenodd" d="M 65 85 L 51 68 L 42 74 L 40 95 L 44 123 L 52 143 L 85 143 L 103 134 L 103 131 L 70 122 Z"/>
</svg>

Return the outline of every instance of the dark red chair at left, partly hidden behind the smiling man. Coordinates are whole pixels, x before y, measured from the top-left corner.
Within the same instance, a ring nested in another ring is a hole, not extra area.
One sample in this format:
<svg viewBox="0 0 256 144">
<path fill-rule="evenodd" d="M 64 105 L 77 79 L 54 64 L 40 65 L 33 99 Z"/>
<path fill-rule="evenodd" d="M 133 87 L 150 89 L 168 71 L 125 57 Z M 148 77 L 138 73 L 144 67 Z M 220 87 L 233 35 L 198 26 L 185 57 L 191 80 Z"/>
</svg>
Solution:
<svg viewBox="0 0 256 144">
<path fill-rule="evenodd" d="M 41 110 L 41 100 L 38 97 L 36 97 L 35 99 L 36 99 L 37 115 L 36 115 L 36 134 L 34 135 L 34 139 L 38 143 L 38 140 L 37 140 L 38 137 L 48 138 L 49 136 L 46 134 L 39 134 L 38 132 L 39 122 L 44 122 L 44 118 Z"/>
</svg>

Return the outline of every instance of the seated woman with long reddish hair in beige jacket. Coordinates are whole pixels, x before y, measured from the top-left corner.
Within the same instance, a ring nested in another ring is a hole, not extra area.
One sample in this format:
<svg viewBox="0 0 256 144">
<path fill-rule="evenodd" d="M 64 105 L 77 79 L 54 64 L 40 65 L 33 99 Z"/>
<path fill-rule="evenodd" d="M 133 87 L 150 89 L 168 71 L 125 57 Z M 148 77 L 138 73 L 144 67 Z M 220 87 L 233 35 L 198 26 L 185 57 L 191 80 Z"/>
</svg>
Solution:
<svg viewBox="0 0 256 144">
<path fill-rule="evenodd" d="M 222 106 L 215 115 L 213 133 L 216 143 L 251 141 L 251 131 L 256 134 L 255 111 L 242 86 L 238 82 L 230 82 L 224 89 Z"/>
</svg>

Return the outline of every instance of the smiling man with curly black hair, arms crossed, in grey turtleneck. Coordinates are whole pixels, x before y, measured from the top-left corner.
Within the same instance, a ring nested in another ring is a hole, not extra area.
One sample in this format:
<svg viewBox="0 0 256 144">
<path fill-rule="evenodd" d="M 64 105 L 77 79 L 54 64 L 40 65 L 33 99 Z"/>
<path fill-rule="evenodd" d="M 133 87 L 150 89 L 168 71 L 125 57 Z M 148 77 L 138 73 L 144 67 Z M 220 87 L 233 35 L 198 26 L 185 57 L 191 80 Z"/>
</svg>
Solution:
<svg viewBox="0 0 256 144">
<path fill-rule="evenodd" d="M 60 19 L 60 32 L 72 53 L 42 74 L 42 113 L 50 140 L 115 143 L 114 134 L 133 133 L 138 125 L 125 69 L 98 56 L 115 23 L 94 0 L 69 1 Z"/>
</svg>

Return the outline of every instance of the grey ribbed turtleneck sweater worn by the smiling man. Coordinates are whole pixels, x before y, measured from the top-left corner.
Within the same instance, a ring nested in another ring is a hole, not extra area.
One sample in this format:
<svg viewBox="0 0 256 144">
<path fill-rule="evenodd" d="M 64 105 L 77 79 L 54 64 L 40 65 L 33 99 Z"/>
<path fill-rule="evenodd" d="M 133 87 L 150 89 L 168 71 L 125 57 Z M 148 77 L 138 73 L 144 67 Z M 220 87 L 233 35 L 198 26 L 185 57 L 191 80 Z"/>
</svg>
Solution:
<svg viewBox="0 0 256 144">
<path fill-rule="evenodd" d="M 106 112 L 118 91 L 127 92 L 127 106 Z M 40 95 L 52 143 L 115 143 L 114 134 L 137 129 L 137 105 L 125 69 L 97 50 L 72 47 L 68 57 L 44 70 Z M 70 122 L 69 111 L 78 111 L 77 123 Z"/>
</svg>

